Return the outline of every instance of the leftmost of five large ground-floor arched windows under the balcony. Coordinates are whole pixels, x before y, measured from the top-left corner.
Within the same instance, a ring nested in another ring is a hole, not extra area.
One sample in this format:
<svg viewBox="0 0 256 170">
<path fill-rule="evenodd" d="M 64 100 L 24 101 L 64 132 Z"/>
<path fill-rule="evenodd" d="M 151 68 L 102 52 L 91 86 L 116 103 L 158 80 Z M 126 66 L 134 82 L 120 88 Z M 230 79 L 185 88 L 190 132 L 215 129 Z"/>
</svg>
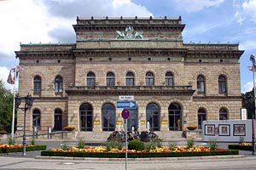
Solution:
<svg viewBox="0 0 256 170">
<path fill-rule="evenodd" d="M 93 121 L 93 109 L 88 103 L 80 105 L 80 130 L 81 131 L 92 131 L 92 121 Z"/>
</svg>

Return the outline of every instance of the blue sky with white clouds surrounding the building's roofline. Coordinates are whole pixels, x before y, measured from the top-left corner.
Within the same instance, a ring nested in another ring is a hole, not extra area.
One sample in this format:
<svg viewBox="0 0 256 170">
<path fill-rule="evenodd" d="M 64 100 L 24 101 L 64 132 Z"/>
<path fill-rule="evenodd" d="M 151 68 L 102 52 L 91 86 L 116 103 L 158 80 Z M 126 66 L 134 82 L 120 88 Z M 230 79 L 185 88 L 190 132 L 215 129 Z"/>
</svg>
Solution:
<svg viewBox="0 0 256 170">
<path fill-rule="evenodd" d="M 15 67 L 20 43 L 75 42 L 79 17 L 182 17 L 183 42 L 239 43 L 241 92 L 253 88 L 256 0 L 0 0 L 0 79 Z"/>
</svg>

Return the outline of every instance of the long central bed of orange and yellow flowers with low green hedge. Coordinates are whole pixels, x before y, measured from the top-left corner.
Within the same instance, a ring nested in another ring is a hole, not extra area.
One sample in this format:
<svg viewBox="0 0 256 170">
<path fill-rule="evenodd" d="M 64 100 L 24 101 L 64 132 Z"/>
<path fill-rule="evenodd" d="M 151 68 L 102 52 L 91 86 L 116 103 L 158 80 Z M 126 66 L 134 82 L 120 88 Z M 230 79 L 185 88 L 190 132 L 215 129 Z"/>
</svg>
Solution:
<svg viewBox="0 0 256 170">
<path fill-rule="evenodd" d="M 204 146 L 195 146 L 188 148 L 185 146 L 177 146 L 171 149 L 169 147 L 156 147 L 150 150 L 127 150 L 129 158 L 140 157 L 181 157 L 181 156 L 226 156 L 239 155 L 238 150 L 211 150 Z M 125 148 L 122 150 L 112 149 L 108 150 L 106 147 L 84 147 L 79 149 L 72 147 L 67 150 L 52 149 L 44 150 L 41 156 L 72 156 L 72 157 L 108 157 L 108 158 L 124 158 Z"/>
</svg>

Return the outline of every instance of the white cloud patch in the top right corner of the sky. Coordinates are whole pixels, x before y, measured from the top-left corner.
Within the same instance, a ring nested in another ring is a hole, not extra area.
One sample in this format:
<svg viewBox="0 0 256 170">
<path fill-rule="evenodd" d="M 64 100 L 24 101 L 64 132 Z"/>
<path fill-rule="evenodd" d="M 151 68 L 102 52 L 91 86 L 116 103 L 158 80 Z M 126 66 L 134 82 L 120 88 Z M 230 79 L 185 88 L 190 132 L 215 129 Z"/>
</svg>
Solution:
<svg viewBox="0 0 256 170">
<path fill-rule="evenodd" d="M 237 8 L 236 14 L 234 15 L 236 21 L 240 24 L 245 20 L 253 21 L 256 24 L 256 1 L 247 0 L 243 3 L 234 1 L 234 6 Z"/>
</svg>

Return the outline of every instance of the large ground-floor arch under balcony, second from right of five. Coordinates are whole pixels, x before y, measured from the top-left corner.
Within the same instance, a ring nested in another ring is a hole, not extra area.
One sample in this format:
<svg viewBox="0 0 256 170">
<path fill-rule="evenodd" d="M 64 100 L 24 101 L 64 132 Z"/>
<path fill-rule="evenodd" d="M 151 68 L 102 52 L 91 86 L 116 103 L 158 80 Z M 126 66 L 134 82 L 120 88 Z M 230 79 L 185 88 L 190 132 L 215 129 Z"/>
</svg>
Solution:
<svg viewBox="0 0 256 170">
<path fill-rule="evenodd" d="M 150 130 L 160 131 L 160 109 L 159 106 L 151 103 L 146 108 L 146 125 L 150 125 Z"/>
</svg>

